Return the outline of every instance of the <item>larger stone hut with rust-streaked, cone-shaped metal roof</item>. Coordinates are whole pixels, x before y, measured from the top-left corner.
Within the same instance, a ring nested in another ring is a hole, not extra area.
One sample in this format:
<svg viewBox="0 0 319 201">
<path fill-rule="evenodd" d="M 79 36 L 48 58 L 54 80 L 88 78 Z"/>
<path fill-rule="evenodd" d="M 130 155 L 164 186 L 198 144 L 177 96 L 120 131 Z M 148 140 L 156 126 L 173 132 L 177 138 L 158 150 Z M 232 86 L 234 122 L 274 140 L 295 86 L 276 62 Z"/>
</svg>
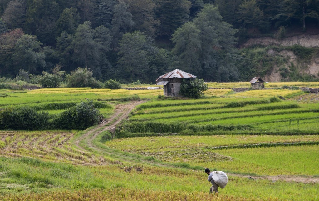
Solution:
<svg viewBox="0 0 319 201">
<path fill-rule="evenodd" d="M 181 90 L 181 84 L 183 79 L 195 79 L 197 76 L 192 75 L 190 73 L 186 73 L 182 70 L 175 69 L 171 72 L 168 72 L 164 75 L 159 76 L 157 78 L 157 85 L 164 86 L 164 95 L 165 96 L 177 96 L 179 95 L 179 91 Z"/>
</svg>

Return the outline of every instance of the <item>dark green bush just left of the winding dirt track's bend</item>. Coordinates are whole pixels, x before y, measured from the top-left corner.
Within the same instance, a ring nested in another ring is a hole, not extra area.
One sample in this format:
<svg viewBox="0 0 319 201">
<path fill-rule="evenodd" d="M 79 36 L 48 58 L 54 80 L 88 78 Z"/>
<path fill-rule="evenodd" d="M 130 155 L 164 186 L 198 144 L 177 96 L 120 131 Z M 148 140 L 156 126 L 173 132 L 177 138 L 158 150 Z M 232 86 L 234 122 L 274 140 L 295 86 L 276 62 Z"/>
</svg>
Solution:
<svg viewBox="0 0 319 201">
<path fill-rule="evenodd" d="M 56 128 L 84 130 L 100 122 L 100 111 L 94 108 L 92 100 L 81 101 L 76 106 L 61 112 L 56 116 Z"/>
</svg>

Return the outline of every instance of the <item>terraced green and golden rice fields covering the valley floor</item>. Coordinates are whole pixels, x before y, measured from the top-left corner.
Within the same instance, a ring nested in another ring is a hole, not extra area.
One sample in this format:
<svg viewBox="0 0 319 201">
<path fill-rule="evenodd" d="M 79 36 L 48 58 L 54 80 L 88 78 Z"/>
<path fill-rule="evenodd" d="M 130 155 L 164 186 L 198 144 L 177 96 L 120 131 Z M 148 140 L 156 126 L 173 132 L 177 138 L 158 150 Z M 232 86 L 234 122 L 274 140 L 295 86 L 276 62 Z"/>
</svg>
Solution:
<svg viewBox="0 0 319 201">
<path fill-rule="evenodd" d="M 249 83 L 208 83 L 211 88 Z M 318 82 L 266 83 L 317 87 Z M 127 86 L 133 87 L 133 86 Z M 135 87 L 135 86 L 134 86 Z M 141 85 L 141 87 L 146 87 Z M 209 89 L 201 99 L 160 99 L 162 90 L 1 90 L 0 107 L 54 115 L 91 99 L 103 131 L 0 131 L 0 200 L 317 200 L 319 102 L 301 90 Z M 94 132 L 93 132 L 94 131 Z M 111 137 L 110 137 L 111 136 Z M 204 168 L 226 172 L 219 194 Z"/>
</svg>

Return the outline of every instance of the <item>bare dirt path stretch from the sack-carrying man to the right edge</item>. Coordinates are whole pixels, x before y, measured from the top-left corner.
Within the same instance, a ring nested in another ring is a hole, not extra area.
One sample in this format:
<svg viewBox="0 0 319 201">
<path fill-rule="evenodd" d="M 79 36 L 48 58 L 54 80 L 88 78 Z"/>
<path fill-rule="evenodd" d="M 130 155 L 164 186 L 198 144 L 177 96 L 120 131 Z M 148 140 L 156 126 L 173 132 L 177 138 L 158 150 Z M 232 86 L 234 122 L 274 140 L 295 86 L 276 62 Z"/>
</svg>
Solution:
<svg viewBox="0 0 319 201">
<path fill-rule="evenodd" d="M 236 177 L 245 177 L 251 180 L 268 179 L 273 182 L 282 180 L 285 182 L 319 183 L 319 177 L 311 177 L 311 176 L 298 176 L 298 175 L 249 176 L 249 175 L 230 174 L 230 173 L 228 173 L 227 175 L 236 176 Z"/>
</svg>

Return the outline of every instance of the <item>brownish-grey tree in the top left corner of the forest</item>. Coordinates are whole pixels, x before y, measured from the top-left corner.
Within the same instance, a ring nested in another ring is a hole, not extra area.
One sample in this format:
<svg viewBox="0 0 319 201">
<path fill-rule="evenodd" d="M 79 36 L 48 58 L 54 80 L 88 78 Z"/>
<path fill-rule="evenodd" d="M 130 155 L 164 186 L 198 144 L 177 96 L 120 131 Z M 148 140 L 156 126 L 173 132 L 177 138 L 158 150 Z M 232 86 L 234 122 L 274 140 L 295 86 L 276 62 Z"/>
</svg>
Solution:
<svg viewBox="0 0 319 201">
<path fill-rule="evenodd" d="M 10 1 L 2 18 L 11 29 L 22 28 L 25 22 L 26 2 L 24 0 Z"/>
</svg>

